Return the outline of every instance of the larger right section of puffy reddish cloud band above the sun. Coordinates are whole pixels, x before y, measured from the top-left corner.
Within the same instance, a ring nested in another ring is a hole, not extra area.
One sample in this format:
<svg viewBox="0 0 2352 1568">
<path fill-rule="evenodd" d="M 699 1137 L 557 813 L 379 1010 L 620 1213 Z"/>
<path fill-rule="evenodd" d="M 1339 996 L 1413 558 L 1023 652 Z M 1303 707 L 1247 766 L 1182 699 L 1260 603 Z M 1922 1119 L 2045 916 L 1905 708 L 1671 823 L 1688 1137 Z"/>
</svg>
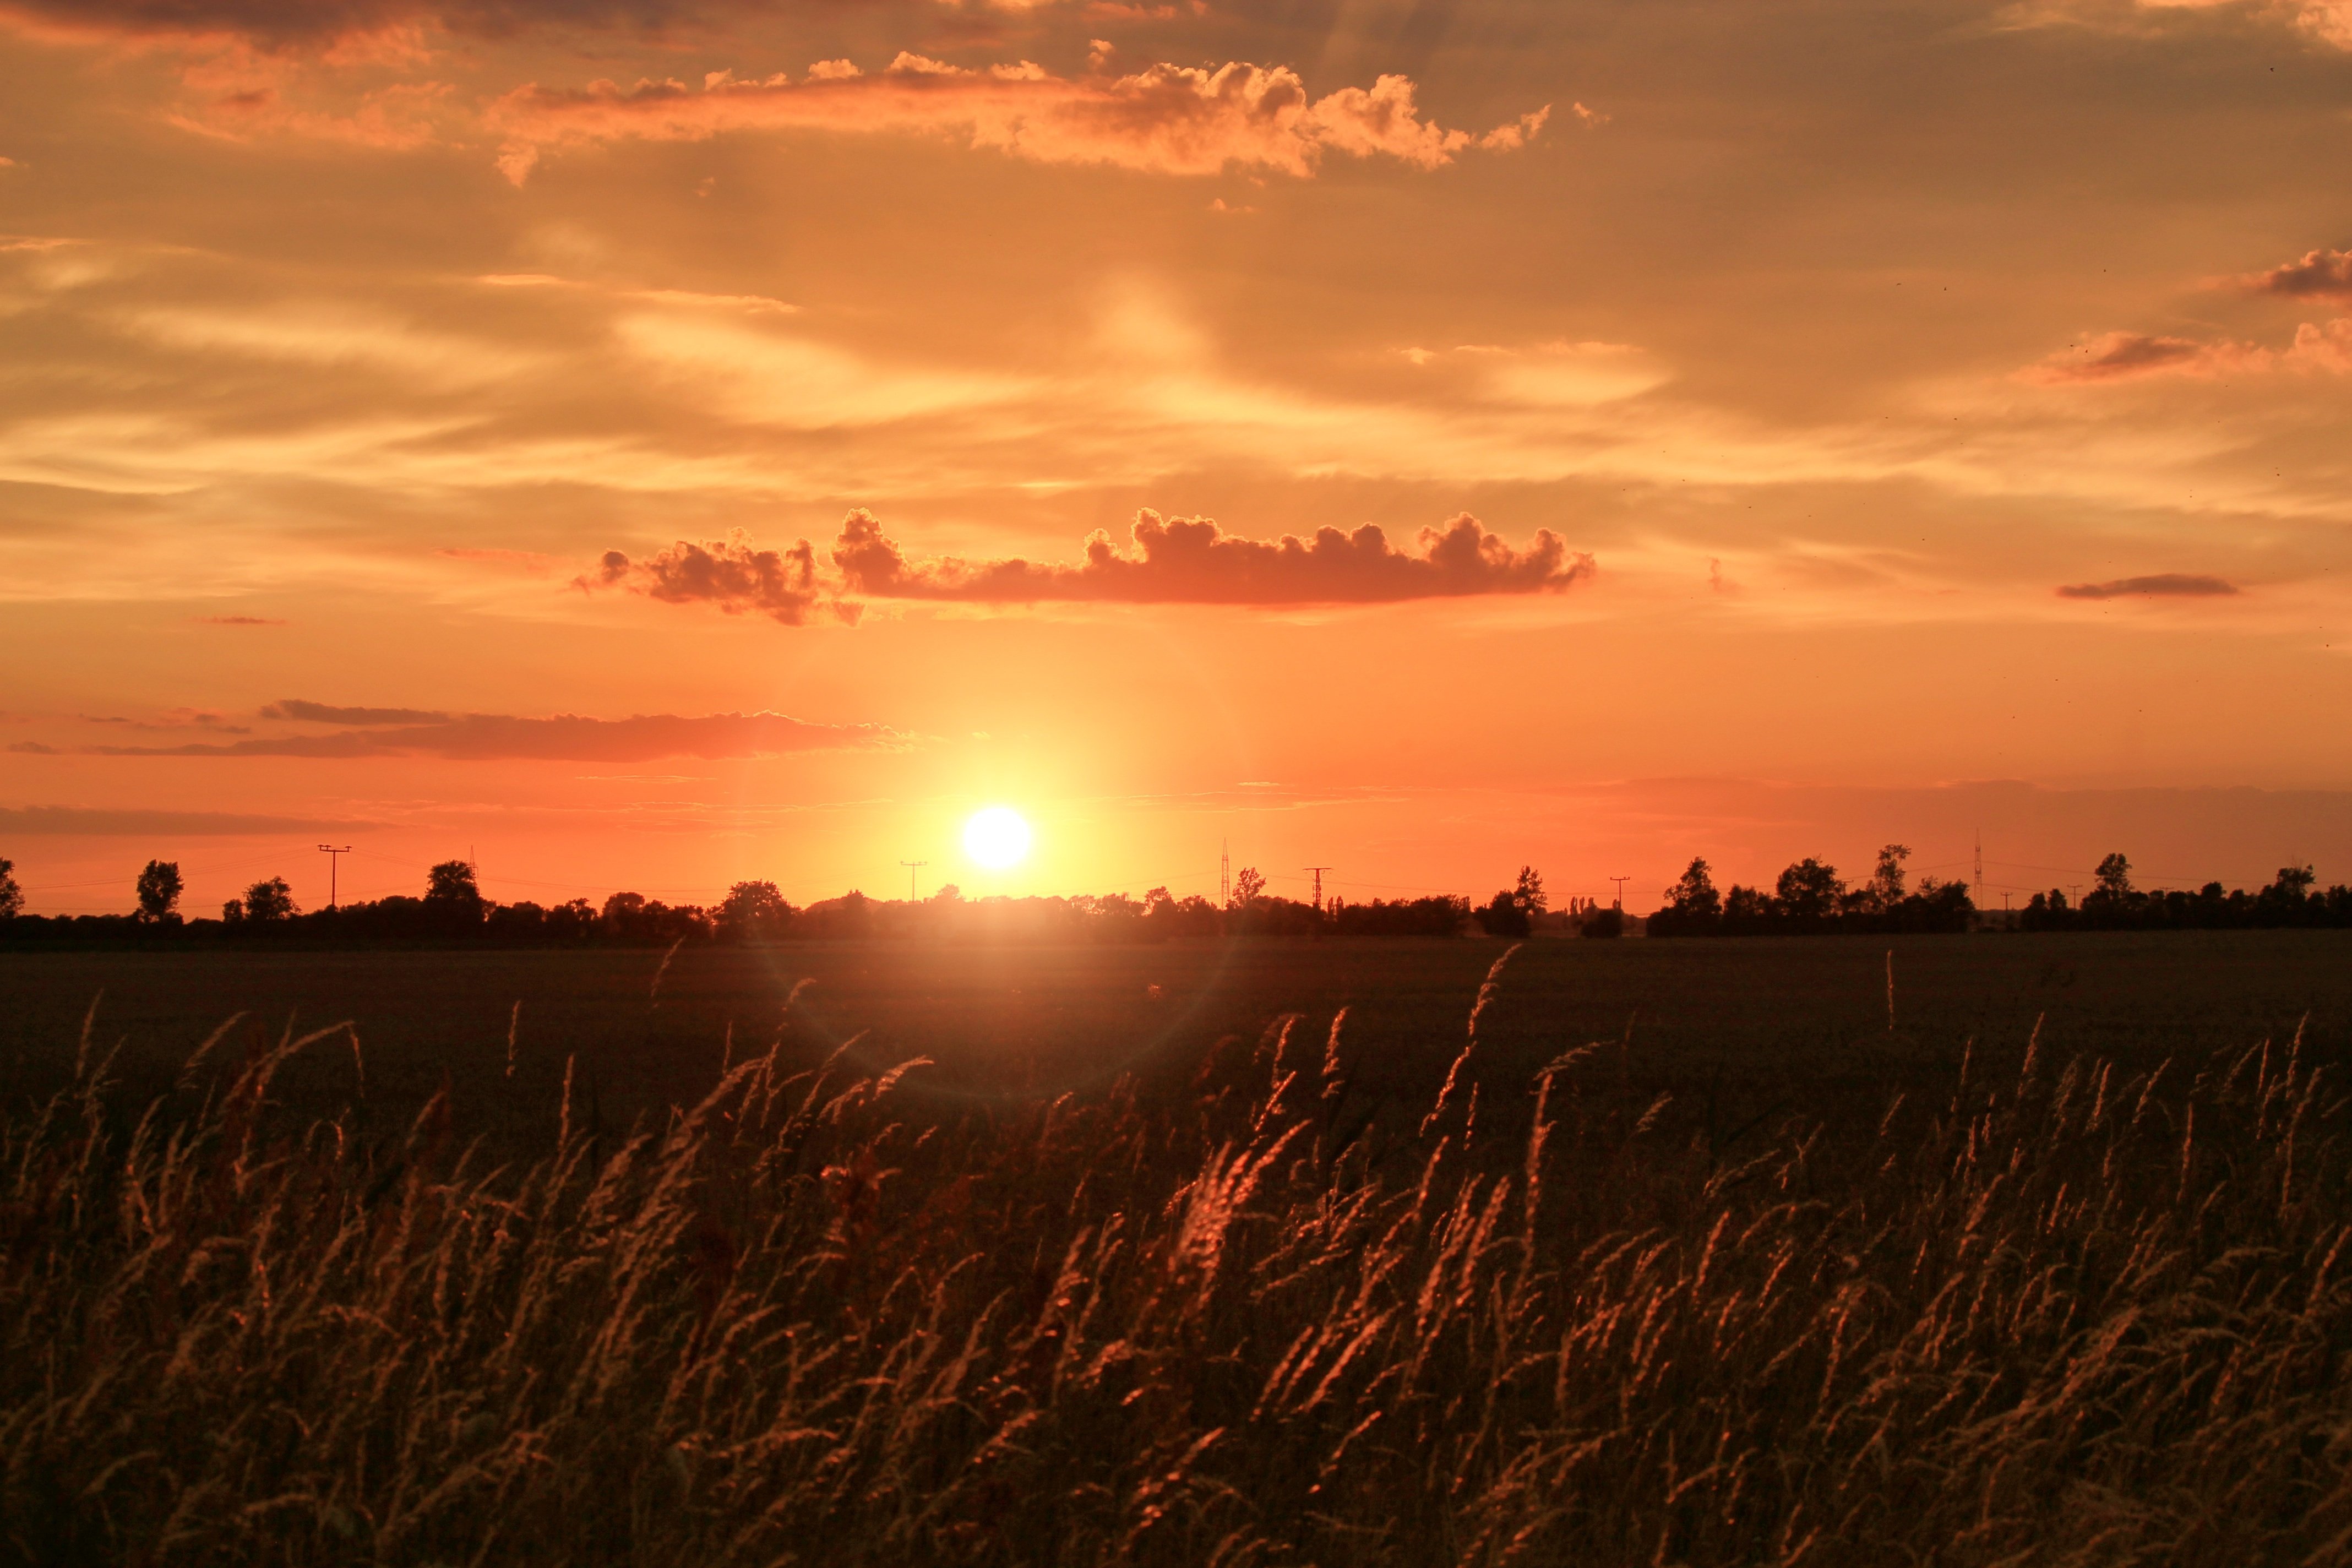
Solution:
<svg viewBox="0 0 2352 1568">
<path fill-rule="evenodd" d="M 1512 550 L 1463 512 L 1442 529 L 1421 529 L 1418 552 L 1399 550 L 1364 524 L 1352 534 L 1317 529 L 1301 541 L 1225 534 L 1207 517 L 1162 520 L 1136 512 L 1134 548 L 1108 534 L 1087 538 L 1082 564 L 1025 559 L 913 564 L 882 534 L 873 512 L 851 512 L 833 548 L 849 592 L 875 599 L 962 599 L 1035 604 L 1103 599 L 1117 604 L 1376 604 L 1489 592 L 1557 592 L 1592 574 L 1592 557 L 1571 552 L 1550 529 Z"/>
</svg>

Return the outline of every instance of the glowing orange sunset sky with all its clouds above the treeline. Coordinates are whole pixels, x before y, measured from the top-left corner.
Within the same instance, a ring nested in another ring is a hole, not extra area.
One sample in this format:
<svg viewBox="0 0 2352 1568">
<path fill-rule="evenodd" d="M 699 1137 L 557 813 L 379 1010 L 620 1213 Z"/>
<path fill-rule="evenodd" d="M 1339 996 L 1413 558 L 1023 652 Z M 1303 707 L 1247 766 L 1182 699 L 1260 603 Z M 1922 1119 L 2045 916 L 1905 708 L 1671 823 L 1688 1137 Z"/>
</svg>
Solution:
<svg viewBox="0 0 2352 1568">
<path fill-rule="evenodd" d="M 0 856 L 2352 879 L 2343 247 L 2352 0 L 0 0 Z"/>
</svg>

